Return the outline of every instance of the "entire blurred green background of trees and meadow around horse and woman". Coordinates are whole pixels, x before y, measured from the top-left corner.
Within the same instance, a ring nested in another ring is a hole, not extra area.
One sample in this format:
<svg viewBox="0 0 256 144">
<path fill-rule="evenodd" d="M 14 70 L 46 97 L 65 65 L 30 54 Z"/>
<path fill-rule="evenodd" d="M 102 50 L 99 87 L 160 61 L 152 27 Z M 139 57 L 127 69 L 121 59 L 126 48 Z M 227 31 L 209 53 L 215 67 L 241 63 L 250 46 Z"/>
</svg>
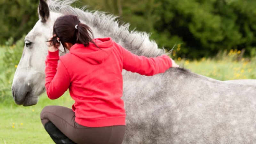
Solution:
<svg viewBox="0 0 256 144">
<path fill-rule="evenodd" d="M 38 21 L 39 0 L 0 0 L 0 143 L 52 143 L 40 123 L 47 105 L 70 107 L 66 93 L 45 94 L 32 107 L 19 107 L 11 85 L 24 36 Z M 146 31 L 181 67 L 217 80 L 256 79 L 256 0 L 79 0 L 91 11 L 119 16 L 120 24 Z M 36 129 L 36 131 L 35 131 Z M 19 135 L 16 137 L 15 135 Z"/>
</svg>

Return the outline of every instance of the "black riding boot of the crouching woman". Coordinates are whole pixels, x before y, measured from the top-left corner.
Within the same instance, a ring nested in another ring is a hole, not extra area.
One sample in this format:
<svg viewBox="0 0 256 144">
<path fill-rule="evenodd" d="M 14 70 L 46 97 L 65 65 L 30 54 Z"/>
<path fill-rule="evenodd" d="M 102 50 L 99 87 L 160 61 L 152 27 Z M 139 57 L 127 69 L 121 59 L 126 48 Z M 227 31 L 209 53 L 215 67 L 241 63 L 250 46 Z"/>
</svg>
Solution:
<svg viewBox="0 0 256 144">
<path fill-rule="evenodd" d="M 60 130 L 51 121 L 44 125 L 44 129 L 56 144 L 76 144 L 60 132 Z"/>
</svg>

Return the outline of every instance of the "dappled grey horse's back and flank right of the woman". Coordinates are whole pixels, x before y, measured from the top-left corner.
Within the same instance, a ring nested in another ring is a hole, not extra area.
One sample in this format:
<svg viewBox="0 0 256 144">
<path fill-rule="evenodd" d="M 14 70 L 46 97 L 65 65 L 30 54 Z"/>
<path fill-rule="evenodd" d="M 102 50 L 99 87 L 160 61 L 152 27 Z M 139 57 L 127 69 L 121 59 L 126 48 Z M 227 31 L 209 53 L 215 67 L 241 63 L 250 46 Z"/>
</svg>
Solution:
<svg viewBox="0 0 256 144">
<path fill-rule="evenodd" d="M 226 84 L 179 69 L 153 77 L 132 76 L 124 76 L 124 144 L 256 140 L 256 86 Z"/>
</svg>

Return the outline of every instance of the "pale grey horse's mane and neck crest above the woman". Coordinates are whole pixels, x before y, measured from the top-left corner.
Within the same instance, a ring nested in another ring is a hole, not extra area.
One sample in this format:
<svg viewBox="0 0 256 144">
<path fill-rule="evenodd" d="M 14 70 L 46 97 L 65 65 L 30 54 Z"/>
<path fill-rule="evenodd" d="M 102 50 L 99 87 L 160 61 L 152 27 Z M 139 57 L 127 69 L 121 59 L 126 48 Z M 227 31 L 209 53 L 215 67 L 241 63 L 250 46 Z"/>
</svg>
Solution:
<svg viewBox="0 0 256 144">
<path fill-rule="evenodd" d="M 106 12 L 86 10 L 86 6 L 82 8 L 74 8 L 71 6 L 76 0 L 47 0 L 51 12 L 62 14 L 72 14 L 79 17 L 92 28 L 101 31 L 102 36 L 110 36 L 112 39 L 122 45 L 124 48 L 136 55 L 146 57 L 157 57 L 164 54 L 164 49 L 158 49 L 154 40 L 150 40 L 150 35 L 146 32 L 129 31 L 130 24 L 120 25 L 116 20 L 116 16 L 107 14 Z"/>
</svg>

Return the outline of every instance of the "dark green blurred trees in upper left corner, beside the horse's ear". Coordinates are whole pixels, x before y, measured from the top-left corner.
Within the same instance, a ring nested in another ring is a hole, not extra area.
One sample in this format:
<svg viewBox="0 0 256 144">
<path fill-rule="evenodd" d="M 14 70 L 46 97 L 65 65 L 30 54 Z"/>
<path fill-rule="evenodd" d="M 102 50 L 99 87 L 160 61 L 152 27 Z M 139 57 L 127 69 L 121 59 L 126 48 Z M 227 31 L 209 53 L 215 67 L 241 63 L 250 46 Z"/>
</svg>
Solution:
<svg viewBox="0 0 256 144">
<path fill-rule="evenodd" d="M 27 34 L 38 20 L 39 0 L 1 0 L 0 1 L 0 44 L 9 37 L 16 42 Z"/>
</svg>

